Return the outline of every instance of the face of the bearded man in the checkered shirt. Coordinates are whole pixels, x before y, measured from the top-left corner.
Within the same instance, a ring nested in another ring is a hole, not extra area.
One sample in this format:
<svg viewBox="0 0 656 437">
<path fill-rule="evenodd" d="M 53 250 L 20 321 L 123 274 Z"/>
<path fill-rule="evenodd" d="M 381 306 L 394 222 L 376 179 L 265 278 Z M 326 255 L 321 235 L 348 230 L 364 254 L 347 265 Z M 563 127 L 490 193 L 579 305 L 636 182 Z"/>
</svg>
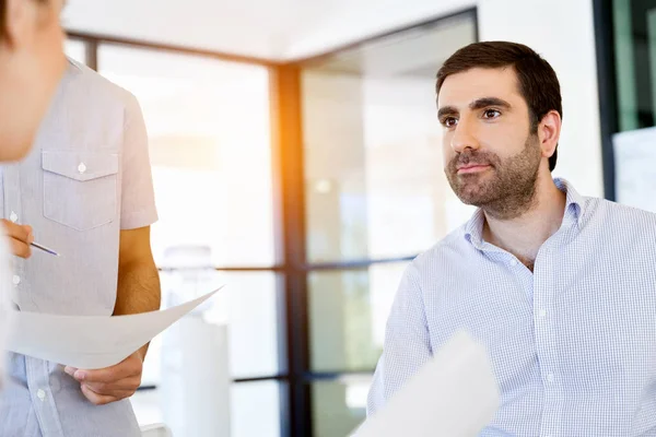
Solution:
<svg viewBox="0 0 656 437">
<path fill-rule="evenodd" d="M 542 152 L 515 71 L 449 75 L 437 98 L 446 177 L 458 198 L 513 215 L 535 193 Z"/>
</svg>

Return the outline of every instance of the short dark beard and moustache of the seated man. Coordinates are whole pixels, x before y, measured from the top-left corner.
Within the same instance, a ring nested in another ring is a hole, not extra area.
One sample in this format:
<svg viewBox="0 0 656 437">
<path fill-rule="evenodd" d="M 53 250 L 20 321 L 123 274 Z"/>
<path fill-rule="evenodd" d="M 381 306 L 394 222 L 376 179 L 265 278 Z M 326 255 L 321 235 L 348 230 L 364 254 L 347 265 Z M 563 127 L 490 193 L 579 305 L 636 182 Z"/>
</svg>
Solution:
<svg viewBox="0 0 656 437">
<path fill-rule="evenodd" d="M 515 218 L 528 211 L 536 198 L 541 153 L 538 138 L 529 134 L 524 150 L 506 160 L 491 152 L 465 149 L 444 172 L 456 196 L 467 204 L 481 208 L 501 220 Z M 459 165 L 490 167 L 480 173 L 458 174 Z"/>
</svg>

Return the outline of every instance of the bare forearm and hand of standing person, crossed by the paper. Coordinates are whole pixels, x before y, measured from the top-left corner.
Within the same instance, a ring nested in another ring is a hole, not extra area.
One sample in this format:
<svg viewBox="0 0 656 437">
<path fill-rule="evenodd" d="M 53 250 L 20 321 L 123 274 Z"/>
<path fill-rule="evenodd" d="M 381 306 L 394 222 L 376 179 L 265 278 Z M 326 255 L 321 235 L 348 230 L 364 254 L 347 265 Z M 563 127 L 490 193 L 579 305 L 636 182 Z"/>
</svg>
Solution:
<svg viewBox="0 0 656 437">
<path fill-rule="evenodd" d="M 150 227 L 120 232 L 118 288 L 114 316 L 157 310 L 160 276 L 150 248 Z M 82 393 L 103 405 L 134 394 L 141 385 L 148 344 L 116 366 L 101 370 L 66 368 L 81 382 Z"/>
</svg>

